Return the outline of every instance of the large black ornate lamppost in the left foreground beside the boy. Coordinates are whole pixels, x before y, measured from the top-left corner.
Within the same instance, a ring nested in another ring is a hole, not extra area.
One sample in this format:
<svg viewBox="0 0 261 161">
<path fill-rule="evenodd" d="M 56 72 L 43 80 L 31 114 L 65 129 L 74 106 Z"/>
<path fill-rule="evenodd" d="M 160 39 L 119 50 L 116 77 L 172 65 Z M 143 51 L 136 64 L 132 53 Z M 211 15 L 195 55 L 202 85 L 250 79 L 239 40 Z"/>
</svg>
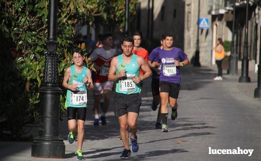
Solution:
<svg viewBox="0 0 261 161">
<path fill-rule="evenodd" d="M 43 87 L 40 88 L 39 136 L 34 138 L 31 156 L 64 158 L 65 144 L 59 137 L 60 95 L 57 68 L 57 0 L 49 0 L 48 38 L 45 41 Z"/>
</svg>

